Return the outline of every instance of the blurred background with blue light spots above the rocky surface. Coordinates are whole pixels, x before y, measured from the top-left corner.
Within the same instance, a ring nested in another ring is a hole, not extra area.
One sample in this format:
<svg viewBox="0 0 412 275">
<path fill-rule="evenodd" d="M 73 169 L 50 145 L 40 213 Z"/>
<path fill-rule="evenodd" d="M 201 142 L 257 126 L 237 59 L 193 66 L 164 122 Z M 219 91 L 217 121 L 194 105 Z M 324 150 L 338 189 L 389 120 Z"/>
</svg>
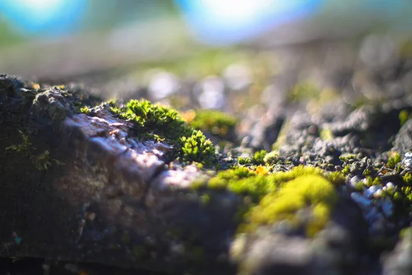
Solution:
<svg viewBox="0 0 412 275">
<path fill-rule="evenodd" d="M 0 72 L 262 118 L 297 83 L 373 85 L 354 72 L 409 58 L 411 14 L 409 0 L 0 0 Z"/>
</svg>

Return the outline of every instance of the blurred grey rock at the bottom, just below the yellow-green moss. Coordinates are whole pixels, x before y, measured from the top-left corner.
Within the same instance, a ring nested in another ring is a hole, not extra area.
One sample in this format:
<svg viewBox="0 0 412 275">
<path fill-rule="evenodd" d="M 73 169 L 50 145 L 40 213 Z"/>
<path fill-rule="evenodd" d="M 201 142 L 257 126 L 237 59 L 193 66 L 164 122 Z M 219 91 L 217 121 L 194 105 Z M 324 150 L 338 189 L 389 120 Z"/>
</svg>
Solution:
<svg viewBox="0 0 412 275">
<path fill-rule="evenodd" d="M 341 199 L 332 221 L 314 239 L 260 228 L 233 241 L 231 255 L 238 274 L 351 274 L 361 261 L 368 240 L 360 209 Z"/>
</svg>

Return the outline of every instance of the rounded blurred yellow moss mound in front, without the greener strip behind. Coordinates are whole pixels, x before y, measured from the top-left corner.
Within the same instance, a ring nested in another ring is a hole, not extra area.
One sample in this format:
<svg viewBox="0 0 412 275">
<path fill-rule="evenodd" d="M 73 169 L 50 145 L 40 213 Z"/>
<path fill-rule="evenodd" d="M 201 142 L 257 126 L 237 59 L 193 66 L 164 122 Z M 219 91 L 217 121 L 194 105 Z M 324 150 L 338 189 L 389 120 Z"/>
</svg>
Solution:
<svg viewBox="0 0 412 275">
<path fill-rule="evenodd" d="M 278 192 L 265 195 L 247 214 L 249 223 L 244 230 L 255 230 L 284 219 L 299 226 L 297 211 L 310 208 L 310 221 L 306 224 L 306 235 L 314 236 L 330 219 L 332 207 L 337 200 L 334 185 L 319 175 L 304 175 L 286 182 Z"/>
</svg>

